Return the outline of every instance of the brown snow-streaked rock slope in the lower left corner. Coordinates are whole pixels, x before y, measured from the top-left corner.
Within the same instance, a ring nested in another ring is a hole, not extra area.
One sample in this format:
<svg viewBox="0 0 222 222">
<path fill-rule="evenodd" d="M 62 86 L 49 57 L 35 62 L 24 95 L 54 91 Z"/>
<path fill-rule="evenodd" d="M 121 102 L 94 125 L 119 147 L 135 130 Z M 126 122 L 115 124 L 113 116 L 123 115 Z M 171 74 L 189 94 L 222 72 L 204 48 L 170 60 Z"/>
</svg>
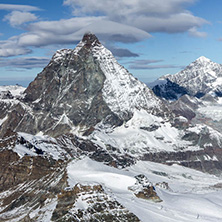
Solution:
<svg viewBox="0 0 222 222">
<path fill-rule="evenodd" d="M 0 151 L 0 159 L 0 221 L 44 221 L 44 207 L 67 187 L 66 164 L 40 156 L 19 158 L 11 150 Z"/>
</svg>

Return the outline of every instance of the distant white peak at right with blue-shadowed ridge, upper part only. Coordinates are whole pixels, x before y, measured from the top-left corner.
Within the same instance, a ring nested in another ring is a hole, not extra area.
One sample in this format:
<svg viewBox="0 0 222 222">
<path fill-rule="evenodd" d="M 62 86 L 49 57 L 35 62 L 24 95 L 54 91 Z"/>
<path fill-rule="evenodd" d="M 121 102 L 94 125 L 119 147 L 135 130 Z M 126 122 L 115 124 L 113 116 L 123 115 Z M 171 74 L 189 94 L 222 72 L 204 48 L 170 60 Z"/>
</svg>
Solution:
<svg viewBox="0 0 222 222">
<path fill-rule="evenodd" d="M 184 94 L 198 98 L 205 94 L 220 96 L 221 83 L 222 65 L 201 56 L 184 70 L 174 75 L 165 75 L 151 86 L 156 95 L 177 99 Z"/>
</svg>

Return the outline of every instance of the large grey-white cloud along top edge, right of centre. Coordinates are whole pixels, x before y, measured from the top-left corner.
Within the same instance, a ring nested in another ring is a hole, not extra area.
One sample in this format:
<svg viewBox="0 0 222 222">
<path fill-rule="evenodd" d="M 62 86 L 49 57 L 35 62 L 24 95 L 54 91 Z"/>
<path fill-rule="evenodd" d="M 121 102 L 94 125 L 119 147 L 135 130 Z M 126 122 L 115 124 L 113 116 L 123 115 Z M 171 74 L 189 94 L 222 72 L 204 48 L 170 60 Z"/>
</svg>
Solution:
<svg viewBox="0 0 222 222">
<path fill-rule="evenodd" d="M 101 14 L 107 19 L 147 32 L 186 32 L 201 27 L 206 20 L 192 15 L 186 5 L 195 0 L 65 0 L 73 14 Z"/>
</svg>

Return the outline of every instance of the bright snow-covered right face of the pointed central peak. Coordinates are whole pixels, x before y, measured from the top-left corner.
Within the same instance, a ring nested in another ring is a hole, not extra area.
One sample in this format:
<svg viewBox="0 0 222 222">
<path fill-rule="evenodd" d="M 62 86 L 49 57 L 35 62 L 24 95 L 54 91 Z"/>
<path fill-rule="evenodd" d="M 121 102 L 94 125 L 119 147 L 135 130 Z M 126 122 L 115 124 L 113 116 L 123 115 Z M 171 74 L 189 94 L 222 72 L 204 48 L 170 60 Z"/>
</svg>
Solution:
<svg viewBox="0 0 222 222">
<path fill-rule="evenodd" d="M 160 109 L 163 106 L 152 91 L 119 65 L 103 45 L 97 44 L 92 52 L 106 77 L 103 97 L 116 115 L 133 113 L 138 109 Z"/>
</svg>

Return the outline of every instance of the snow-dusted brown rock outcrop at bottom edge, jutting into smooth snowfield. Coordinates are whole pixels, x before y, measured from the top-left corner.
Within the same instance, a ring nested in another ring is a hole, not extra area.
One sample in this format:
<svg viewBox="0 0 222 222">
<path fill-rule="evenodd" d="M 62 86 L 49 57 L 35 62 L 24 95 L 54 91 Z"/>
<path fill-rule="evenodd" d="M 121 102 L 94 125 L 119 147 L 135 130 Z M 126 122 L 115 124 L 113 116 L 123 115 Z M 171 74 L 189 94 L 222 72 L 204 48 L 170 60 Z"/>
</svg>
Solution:
<svg viewBox="0 0 222 222">
<path fill-rule="evenodd" d="M 58 195 L 52 221 L 140 221 L 101 185 L 76 184 Z"/>
</svg>

